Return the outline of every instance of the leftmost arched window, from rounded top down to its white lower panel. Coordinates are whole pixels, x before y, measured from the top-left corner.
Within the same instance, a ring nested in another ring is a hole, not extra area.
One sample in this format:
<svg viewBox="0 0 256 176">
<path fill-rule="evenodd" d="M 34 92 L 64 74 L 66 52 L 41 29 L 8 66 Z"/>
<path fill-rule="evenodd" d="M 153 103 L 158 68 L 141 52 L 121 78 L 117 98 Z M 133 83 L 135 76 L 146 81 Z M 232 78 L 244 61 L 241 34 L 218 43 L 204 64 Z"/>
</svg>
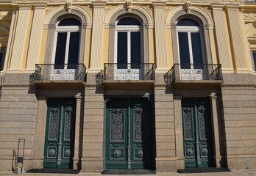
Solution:
<svg viewBox="0 0 256 176">
<path fill-rule="evenodd" d="M 65 18 L 57 23 L 54 35 L 52 63 L 55 68 L 74 68 L 79 62 L 81 23 L 76 18 Z"/>
</svg>

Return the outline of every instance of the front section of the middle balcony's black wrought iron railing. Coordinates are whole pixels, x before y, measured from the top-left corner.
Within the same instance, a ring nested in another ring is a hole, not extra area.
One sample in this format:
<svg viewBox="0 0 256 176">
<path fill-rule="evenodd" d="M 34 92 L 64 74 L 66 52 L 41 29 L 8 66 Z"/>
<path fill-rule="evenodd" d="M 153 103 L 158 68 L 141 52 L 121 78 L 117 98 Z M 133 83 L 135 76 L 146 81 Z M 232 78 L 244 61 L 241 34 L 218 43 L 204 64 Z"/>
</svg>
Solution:
<svg viewBox="0 0 256 176">
<path fill-rule="evenodd" d="M 104 80 L 154 80 L 154 64 L 104 64 Z"/>
</svg>

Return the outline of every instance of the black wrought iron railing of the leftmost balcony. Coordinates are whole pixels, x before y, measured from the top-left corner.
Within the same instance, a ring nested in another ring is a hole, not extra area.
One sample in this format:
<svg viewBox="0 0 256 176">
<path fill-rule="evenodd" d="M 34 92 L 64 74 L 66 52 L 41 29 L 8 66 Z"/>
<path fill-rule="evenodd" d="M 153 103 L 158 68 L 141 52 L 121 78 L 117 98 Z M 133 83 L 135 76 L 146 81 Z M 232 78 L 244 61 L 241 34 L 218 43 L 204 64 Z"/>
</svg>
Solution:
<svg viewBox="0 0 256 176">
<path fill-rule="evenodd" d="M 83 64 L 37 64 L 34 81 L 84 81 L 86 68 Z"/>
</svg>

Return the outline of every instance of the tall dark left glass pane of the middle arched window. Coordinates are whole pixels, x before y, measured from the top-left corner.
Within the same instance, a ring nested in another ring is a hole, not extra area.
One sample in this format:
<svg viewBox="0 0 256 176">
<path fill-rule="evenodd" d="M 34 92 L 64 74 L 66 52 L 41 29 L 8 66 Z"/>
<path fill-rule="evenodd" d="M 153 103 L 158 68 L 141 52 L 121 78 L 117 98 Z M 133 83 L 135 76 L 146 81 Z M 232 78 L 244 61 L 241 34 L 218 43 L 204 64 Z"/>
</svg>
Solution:
<svg viewBox="0 0 256 176">
<path fill-rule="evenodd" d="M 118 32 L 117 63 L 127 64 L 127 32 Z M 127 65 L 118 65 L 118 68 L 127 68 Z"/>
</svg>

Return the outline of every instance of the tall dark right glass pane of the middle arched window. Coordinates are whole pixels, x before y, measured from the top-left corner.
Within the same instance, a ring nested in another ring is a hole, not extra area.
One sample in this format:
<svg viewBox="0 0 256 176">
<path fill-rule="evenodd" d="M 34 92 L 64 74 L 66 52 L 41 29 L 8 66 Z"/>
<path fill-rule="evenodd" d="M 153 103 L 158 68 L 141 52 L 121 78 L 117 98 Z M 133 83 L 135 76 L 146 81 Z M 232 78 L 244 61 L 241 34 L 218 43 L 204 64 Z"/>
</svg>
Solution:
<svg viewBox="0 0 256 176">
<path fill-rule="evenodd" d="M 141 63 L 141 32 L 131 32 L 131 64 Z M 140 65 L 132 65 L 132 68 Z"/>
</svg>

